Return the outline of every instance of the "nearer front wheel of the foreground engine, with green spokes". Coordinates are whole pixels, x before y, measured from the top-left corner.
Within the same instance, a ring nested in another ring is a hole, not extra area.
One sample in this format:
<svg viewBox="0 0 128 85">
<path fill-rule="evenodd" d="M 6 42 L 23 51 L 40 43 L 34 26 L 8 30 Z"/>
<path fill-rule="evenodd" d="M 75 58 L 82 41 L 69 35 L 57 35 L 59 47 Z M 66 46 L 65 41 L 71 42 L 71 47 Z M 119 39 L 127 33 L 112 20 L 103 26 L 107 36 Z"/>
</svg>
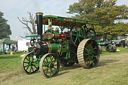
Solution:
<svg viewBox="0 0 128 85">
<path fill-rule="evenodd" d="M 60 69 L 60 63 L 55 54 L 47 53 L 45 54 L 40 61 L 40 71 L 47 77 L 56 76 Z"/>
</svg>

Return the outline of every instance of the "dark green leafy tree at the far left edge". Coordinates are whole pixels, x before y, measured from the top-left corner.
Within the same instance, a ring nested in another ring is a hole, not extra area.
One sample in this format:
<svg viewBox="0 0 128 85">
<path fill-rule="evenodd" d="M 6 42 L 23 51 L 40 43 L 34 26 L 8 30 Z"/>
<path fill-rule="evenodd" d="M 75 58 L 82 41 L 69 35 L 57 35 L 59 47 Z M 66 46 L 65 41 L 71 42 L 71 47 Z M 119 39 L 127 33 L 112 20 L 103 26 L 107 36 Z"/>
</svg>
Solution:
<svg viewBox="0 0 128 85">
<path fill-rule="evenodd" d="M 4 14 L 0 12 L 0 39 L 9 38 L 11 35 L 10 26 L 7 24 L 7 20 L 3 18 Z"/>
</svg>

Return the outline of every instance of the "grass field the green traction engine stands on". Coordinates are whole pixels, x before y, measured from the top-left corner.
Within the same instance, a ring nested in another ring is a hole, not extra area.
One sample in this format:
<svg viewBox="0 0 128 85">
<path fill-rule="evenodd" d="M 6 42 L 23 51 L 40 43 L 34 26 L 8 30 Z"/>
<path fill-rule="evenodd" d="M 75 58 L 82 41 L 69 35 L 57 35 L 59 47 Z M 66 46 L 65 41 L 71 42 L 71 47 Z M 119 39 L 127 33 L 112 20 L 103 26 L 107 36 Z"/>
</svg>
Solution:
<svg viewBox="0 0 128 85">
<path fill-rule="evenodd" d="M 53 78 L 45 78 L 38 71 L 27 75 L 21 69 L 23 53 L 0 55 L 0 85 L 128 85 L 128 49 L 102 52 L 99 64 L 83 69 L 78 64 L 61 67 Z"/>
</svg>

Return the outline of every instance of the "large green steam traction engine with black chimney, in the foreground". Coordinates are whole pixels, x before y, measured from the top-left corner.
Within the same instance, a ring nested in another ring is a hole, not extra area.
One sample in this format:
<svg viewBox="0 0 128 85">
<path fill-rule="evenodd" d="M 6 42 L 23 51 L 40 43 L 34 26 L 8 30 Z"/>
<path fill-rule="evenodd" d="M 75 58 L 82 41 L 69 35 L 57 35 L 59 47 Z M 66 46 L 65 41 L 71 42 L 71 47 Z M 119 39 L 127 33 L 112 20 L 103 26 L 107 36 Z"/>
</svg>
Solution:
<svg viewBox="0 0 128 85">
<path fill-rule="evenodd" d="M 36 13 L 37 35 L 31 37 L 29 53 L 22 59 L 22 68 L 27 74 L 40 70 L 45 77 L 58 74 L 61 66 L 72 66 L 77 63 L 83 68 L 92 68 L 99 61 L 99 47 L 95 35 L 87 24 L 97 25 L 73 18 L 59 17 Z M 48 25 L 48 30 L 45 30 Z M 52 26 L 59 26 L 53 30 Z M 66 31 L 64 31 L 66 30 Z"/>
</svg>

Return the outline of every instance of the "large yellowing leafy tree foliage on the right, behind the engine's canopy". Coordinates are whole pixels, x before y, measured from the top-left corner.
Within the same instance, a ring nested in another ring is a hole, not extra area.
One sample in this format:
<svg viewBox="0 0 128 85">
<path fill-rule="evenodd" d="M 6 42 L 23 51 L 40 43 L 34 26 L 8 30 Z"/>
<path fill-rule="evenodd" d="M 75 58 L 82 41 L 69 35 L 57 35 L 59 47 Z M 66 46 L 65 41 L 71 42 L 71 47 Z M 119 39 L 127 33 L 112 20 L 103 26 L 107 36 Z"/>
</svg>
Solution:
<svg viewBox="0 0 128 85">
<path fill-rule="evenodd" d="M 116 3 L 117 0 L 79 0 L 69 6 L 67 13 L 74 14 L 76 19 L 102 22 L 103 29 L 96 26 L 96 32 L 101 35 L 106 32 L 111 39 L 128 33 L 128 23 L 115 23 L 128 19 L 128 7 Z"/>
</svg>

